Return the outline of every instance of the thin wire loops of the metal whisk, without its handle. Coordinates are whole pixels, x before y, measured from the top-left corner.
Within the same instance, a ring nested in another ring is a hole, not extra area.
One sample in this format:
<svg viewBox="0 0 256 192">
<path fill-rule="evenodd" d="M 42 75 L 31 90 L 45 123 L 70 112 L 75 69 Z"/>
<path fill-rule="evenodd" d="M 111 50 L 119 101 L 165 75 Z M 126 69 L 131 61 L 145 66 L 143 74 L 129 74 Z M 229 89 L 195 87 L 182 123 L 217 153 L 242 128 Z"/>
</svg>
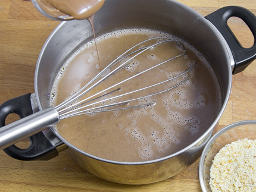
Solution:
<svg viewBox="0 0 256 192">
<path fill-rule="evenodd" d="M 143 47 L 143 48 L 139 48 L 135 51 L 132 51 L 132 49 L 136 48 L 137 46 L 141 45 L 142 43 L 145 43 L 145 42 L 148 42 L 149 40 L 154 40 L 154 39 L 161 39 L 162 41 L 154 43 L 153 45 L 146 46 L 146 47 Z M 164 40 L 164 39 L 167 39 L 167 40 Z M 142 90 L 149 89 L 151 87 L 155 87 L 155 86 L 158 86 L 160 84 L 167 83 L 168 81 L 174 80 L 175 78 L 181 77 L 182 75 L 185 75 L 186 73 L 191 71 L 193 68 L 195 68 L 196 62 L 195 62 L 194 65 L 192 65 L 191 68 L 189 68 L 189 70 L 186 70 L 185 72 L 183 72 L 179 75 L 176 75 L 175 77 L 171 77 L 171 78 L 168 78 L 167 80 L 161 81 L 159 83 L 155 83 L 155 84 L 152 84 L 150 86 L 143 87 L 141 89 L 136 89 L 136 90 L 133 90 L 133 91 L 128 92 L 128 93 L 123 93 L 121 95 L 111 96 L 110 98 L 106 98 L 106 99 L 101 99 L 101 98 L 105 97 L 107 95 L 111 95 L 111 93 L 120 91 L 120 88 L 115 89 L 115 90 L 113 90 L 111 92 L 108 92 L 108 93 L 105 93 L 105 94 L 104 94 L 104 92 L 107 92 L 108 90 L 113 89 L 114 87 L 119 86 L 120 84 L 122 84 L 122 83 L 124 83 L 124 82 L 126 82 L 126 81 L 128 81 L 132 78 L 135 78 L 138 75 L 146 73 L 147 71 L 150 71 L 154 68 L 157 68 L 160 65 L 166 64 L 167 62 L 169 62 L 173 59 L 176 59 L 176 58 L 179 58 L 180 56 L 186 55 L 186 52 L 181 53 L 180 55 L 174 56 L 173 58 L 167 59 L 166 61 L 163 61 L 160 64 L 154 65 L 153 67 L 150 67 L 146 70 L 143 70 L 142 72 L 140 72 L 138 74 L 132 75 L 131 77 L 126 78 L 125 80 L 120 81 L 120 82 L 114 84 L 113 86 L 110 86 L 110 87 L 108 87 L 104 90 L 101 90 L 100 92 L 97 92 L 92 96 L 88 96 L 85 99 L 82 99 L 78 102 L 77 102 L 77 100 L 80 97 L 82 97 L 83 95 L 85 95 L 86 93 L 88 93 L 90 90 L 92 90 L 93 88 L 98 86 L 98 84 L 102 83 L 102 81 L 109 78 L 111 75 L 117 73 L 118 71 L 122 70 L 123 68 L 126 68 L 129 65 L 129 62 L 133 58 L 135 58 L 136 56 L 140 55 L 142 52 L 145 52 L 146 50 L 151 49 L 153 47 L 156 47 L 157 45 L 160 45 L 161 43 L 165 43 L 165 42 L 176 42 L 177 45 L 179 45 L 183 49 L 183 51 L 185 51 L 185 47 L 181 42 L 177 42 L 176 40 L 170 39 L 169 37 L 155 37 L 155 38 L 145 40 L 141 43 L 138 43 L 137 45 L 133 46 L 132 48 L 128 49 L 126 52 L 124 52 L 123 54 L 118 56 L 113 62 L 111 62 L 107 67 L 105 67 L 104 70 L 102 70 L 94 78 L 92 78 L 92 80 L 90 80 L 89 83 L 87 83 L 85 86 L 83 86 L 82 89 L 80 89 L 77 93 L 75 93 L 73 96 L 69 97 L 67 100 L 65 100 L 60 105 L 57 105 L 55 107 L 55 109 L 57 109 L 57 111 L 60 115 L 60 119 L 74 117 L 74 116 L 77 116 L 77 115 L 85 115 L 85 114 L 92 114 L 92 113 L 98 113 L 98 112 L 107 112 L 107 111 L 118 111 L 118 110 L 123 110 L 123 109 L 139 108 L 139 107 L 146 106 L 146 105 L 147 106 L 155 105 L 156 102 L 151 102 L 151 103 L 145 103 L 145 104 L 142 104 L 142 105 L 135 105 L 135 106 L 129 106 L 129 107 L 110 109 L 110 108 L 113 108 L 113 107 L 116 107 L 116 106 L 129 105 L 129 102 L 132 102 L 133 100 L 139 100 L 139 99 L 143 99 L 143 98 L 146 98 L 146 97 L 158 95 L 160 93 L 164 93 L 164 92 L 167 92 L 168 90 L 174 89 L 177 86 L 180 86 L 181 84 L 185 83 L 188 80 L 189 76 L 186 77 L 184 80 L 180 81 L 180 83 L 177 83 L 175 86 L 169 87 L 168 89 L 161 90 L 157 93 L 152 93 L 150 95 L 144 95 L 144 96 L 136 97 L 136 98 L 124 100 L 124 101 L 121 101 L 121 102 L 114 102 L 114 99 L 116 99 L 118 97 L 121 98 L 123 96 L 130 95 L 132 93 L 140 92 Z M 130 51 L 132 51 L 132 52 L 130 52 Z M 104 73 L 106 73 L 111 67 L 113 67 L 115 64 L 120 62 L 122 59 L 127 58 L 128 56 L 130 56 L 132 54 L 135 54 L 135 55 L 131 56 L 129 59 L 127 59 L 126 61 L 121 63 L 118 67 L 116 67 L 110 73 L 108 73 L 107 75 L 102 77 L 100 80 L 96 81 L 96 79 L 98 79 L 100 76 L 102 76 Z M 103 94 L 103 95 L 98 96 L 100 94 Z M 98 97 L 96 97 L 96 96 L 98 96 Z M 95 101 L 97 99 L 101 99 L 101 100 Z M 105 104 L 105 102 L 110 101 L 110 100 L 113 100 L 113 103 Z M 95 101 L 95 102 L 93 102 L 93 101 Z M 104 103 L 104 105 L 101 105 L 100 103 L 101 104 Z M 99 106 L 95 106 L 95 105 L 99 105 Z M 109 108 L 109 109 L 107 109 L 107 108 Z"/>
</svg>

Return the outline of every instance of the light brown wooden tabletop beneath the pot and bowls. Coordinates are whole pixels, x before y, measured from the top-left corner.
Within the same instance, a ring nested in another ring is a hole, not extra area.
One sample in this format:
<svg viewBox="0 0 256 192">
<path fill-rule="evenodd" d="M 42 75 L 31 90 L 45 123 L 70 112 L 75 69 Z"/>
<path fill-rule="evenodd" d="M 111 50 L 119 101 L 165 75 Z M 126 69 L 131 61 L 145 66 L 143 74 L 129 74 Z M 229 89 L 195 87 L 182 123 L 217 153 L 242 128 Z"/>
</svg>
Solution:
<svg viewBox="0 0 256 192">
<path fill-rule="evenodd" d="M 227 5 L 248 8 L 256 15 L 255 0 L 179 1 L 203 16 Z M 34 93 L 34 73 L 40 49 L 58 23 L 40 15 L 32 2 L 0 0 L 0 103 Z M 243 46 L 253 44 L 252 34 L 241 20 L 232 18 L 229 25 Z M 219 122 L 221 127 L 256 118 L 255 77 L 256 62 L 242 73 L 233 75 L 232 93 Z M 9 115 L 7 121 L 14 119 L 17 119 L 16 115 Z M 27 141 L 21 141 L 19 146 L 27 144 Z M 0 191 L 201 191 L 198 164 L 199 160 L 168 180 L 133 186 L 95 177 L 76 165 L 65 152 L 48 161 L 23 162 L 1 151 Z"/>
</svg>

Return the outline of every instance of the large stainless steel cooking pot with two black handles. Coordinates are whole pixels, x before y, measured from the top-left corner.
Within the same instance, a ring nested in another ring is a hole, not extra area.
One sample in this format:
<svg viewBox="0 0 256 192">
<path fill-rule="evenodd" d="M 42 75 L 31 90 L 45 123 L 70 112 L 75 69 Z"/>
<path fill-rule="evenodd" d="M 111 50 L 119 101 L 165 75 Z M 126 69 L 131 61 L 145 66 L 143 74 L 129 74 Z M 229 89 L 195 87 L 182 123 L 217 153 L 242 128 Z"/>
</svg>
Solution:
<svg viewBox="0 0 256 192">
<path fill-rule="evenodd" d="M 211 126 L 205 129 L 204 134 L 179 152 L 145 162 L 116 162 L 77 149 L 52 127 L 39 133 L 39 128 L 33 131 L 26 130 L 29 132 L 22 131 L 25 128 L 21 128 L 18 132 L 19 130 L 8 130 L 8 125 L 3 127 L 5 117 L 11 112 L 23 118 L 49 107 L 49 92 L 58 71 L 74 51 L 93 38 L 87 20 L 61 23 L 46 40 L 40 52 L 35 72 L 35 93 L 8 100 L 1 105 L 0 143 L 4 140 L 1 132 L 6 130 L 16 137 L 21 132 L 26 132 L 26 137 L 33 135 L 30 137 L 31 144 L 28 149 L 19 149 L 13 145 L 4 151 L 16 159 L 48 160 L 66 149 L 65 151 L 82 168 L 105 180 L 122 184 L 148 184 L 178 174 L 199 158 L 203 147 L 215 133 L 218 120 L 229 99 L 232 73 L 239 73 L 255 59 L 255 42 L 252 48 L 242 48 L 227 26 L 227 19 L 232 16 L 242 18 L 255 37 L 256 17 L 241 7 L 221 8 L 205 18 L 186 5 L 171 0 L 107 0 L 95 15 L 96 36 L 129 28 L 161 30 L 172 33 L 200 49 L 213 65 L 221 87 L 221 110 Z M 16 138 L 14 140 L 17 141 Z"/>
</svg>

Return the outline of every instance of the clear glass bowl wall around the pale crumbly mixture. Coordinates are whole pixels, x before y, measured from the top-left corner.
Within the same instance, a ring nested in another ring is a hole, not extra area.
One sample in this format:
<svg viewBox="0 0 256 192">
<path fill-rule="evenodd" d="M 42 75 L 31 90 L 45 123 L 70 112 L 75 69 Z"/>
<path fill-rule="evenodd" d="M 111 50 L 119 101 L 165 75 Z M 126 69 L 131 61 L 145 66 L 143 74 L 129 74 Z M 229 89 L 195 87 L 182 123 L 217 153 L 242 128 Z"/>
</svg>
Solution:
<svg viewBox="0 0 256 192">
<path fill-rule="evenodd" d="M 205 145 L 199 162 L 199 181 L 203 192 L 211 192 L 210 168 L 214 156 L 226 144 L 239 139 L 256 139 L 256 121 L 239 121 L 224 127 Z"/>
</svg>

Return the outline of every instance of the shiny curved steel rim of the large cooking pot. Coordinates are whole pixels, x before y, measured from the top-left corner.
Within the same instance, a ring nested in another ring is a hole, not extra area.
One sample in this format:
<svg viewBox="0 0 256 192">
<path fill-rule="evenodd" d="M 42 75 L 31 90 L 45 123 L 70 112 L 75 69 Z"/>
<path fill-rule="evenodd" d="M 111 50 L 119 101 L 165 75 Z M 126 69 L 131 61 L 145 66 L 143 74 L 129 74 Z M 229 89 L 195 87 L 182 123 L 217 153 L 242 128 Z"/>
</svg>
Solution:
<svg viewBox="0 0 256 192">
<path fill-rule="evenodd" d="M 99 158 L 97 156 L 94 155 L 90 155 L 89 153 L 84 152 L 83 150 L 78 149 L 77 147 L 73 146 L 73 144 L 69 143 L 67 140 L 65 140 L 59 133 L 57 130 L 55 130 L 54 127 L 50 127 L 50 129 L 54 132 L 54 134 L 61 139 L 65 144 L 67 144 L 68 147 L 70 147 L 71 149 L 76 150 L 79 153 L 82 153 L 83 155 L 89 156 L 90 158 L 93 159 L 97 159 L 97 160 L 101 160 L 102 162 L 107 162 L 107 163 L 114 163 L 114 164 L 119 164 L 119 165 L 145 165 L 145 164 L 149 164 L 149 163 L 155 163 L 155 162 L 160 162 L 166 159 L 170 159 L 173 158 L 174 156 L 180 155 L 184 152 L 186 152 L 188 149 L 191 149 L 191 147 L 195 146 L 196 144 L 198 144 L 202 139 L 204 139 L 204 137 L 206 137 L 209 133 L 211 133 L 211 131 L 213 131 L 213 128 L 216 126 L 216 124 L 218 123 L 221 115 L 224 112 L 224 109 L 226 108 L 227 102 L 229 100 L 229 95 L 231 92 L 231 84 L 232 84 L 232 68 L 235 65 L 235 61 L 233 59 L 232 56 L 232 52 L 230 51 L 229 46 L 227 45 L 226 40 L 224 39 L 224 37 L 220 34 L 220 32 L 218 32 L 218 30 L 216 29 L 216 27 L 210 23 L 210 21 L 208 21 L 206 18 L 204 18 L 201 14 L 199 14 L 198 12 L 196 12 L 195 10 L 193 10 L 192 8 L 188 7 L 187 5 L 184 5 L 180 2 L 177 1 L 173 1 L 173 0 L 168 0 L 171 1 L 175 4 L 178 4 L 179 6 L 183 7 L 184 9 L 190 11 L 192 14 L 196 15 L 197 20 L 201 20 L 203 22 L 205 22 L 207 24 L 208 27 L 210 27 L 211 30 L 213 30 L 213 32 L 216 34 L 219 42 L 221 43 L 223 49 L 224 49 L 224 53 L 226 55 L 226 59 L 227 59 L 227 63 L 230 64 L 230 67 L 228 67 L 228 86 L 227 86 L 227 90 L 226 93 L 224 95 L 226 95 L 225 99 L 223 100 L 223 105 L 221 106 L 220 112 L 218 113 L 216 119 L 214 120 L 214 122 L 211 124 L 211 126 L 207 129 L 207 131 L 205 131 L 204 134 L 202 134 L 202 136 L 200 136 L 198 139 L 196 139 L 195 141 L 193 141 L 193 143 L 189 144 L 189 146 L 183 148 L 182 150 L 179 150 L 176 153 L 173 153 L 171 155 L 165 156 L 164 158 L 159 158 L 159 159 L 154 159 L 154 160 L 146 160 L 146 161 L 142 161 L 142 162 L 120 162 L 120 161 L 115 161 L 115 160 L 108 160 L 108 159 L 104 159 L 104 158 Z M 42 58 L 43 55 L 43 51 L 46 48 L 46 46 L 48 45 L 48 42 L 52 39 L 52 37 L 54 36 L 54 34 L 61 29 L 61 27 L 68 21 L 62 21 L 55 29 L 54 31 L 50 34 L 50 36 L 48 37 L 48 39 L 46 40 L 45 44 L 43 45 L 43 48 L 39 54 L 39 58 L 38 58 L 38 62 L 36 64 L 36 70 L 35 70 L 35 93 L 36 93 L 36 100 L 38 102 L 38 106 L 39 109 L 42 110 L 42 105 L 40 103 L 39 100 L 39 90 L 37 87 L 38 84 L 38 73 L 39 73 L 39 64 L 40 64 L 40 59 Z M 211 133 L 212 134 L 212 133 Z M 210 135 L 211 137 L 211 135 Z M 207 140 L 205 140 L 202 144 L 200 145 L 205 145 L 208 140 L 210 140 L 210 137 L 207 138 Z M 202 146 L 204 147 L 204 146 Z"/>
</svg>

